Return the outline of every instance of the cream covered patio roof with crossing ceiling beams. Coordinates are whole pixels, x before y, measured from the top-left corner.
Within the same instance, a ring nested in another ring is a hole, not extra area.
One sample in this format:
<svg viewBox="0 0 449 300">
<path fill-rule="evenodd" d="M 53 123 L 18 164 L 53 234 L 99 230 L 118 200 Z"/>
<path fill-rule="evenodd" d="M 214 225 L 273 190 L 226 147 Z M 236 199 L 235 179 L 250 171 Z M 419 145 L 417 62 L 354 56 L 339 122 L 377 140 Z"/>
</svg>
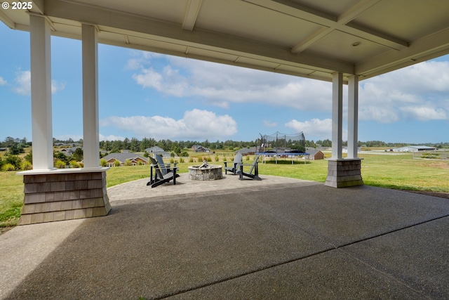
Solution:
<svg viewBox="0 0 449 300">
<path fill-rule="evenodd" d="M 332 81 L 360 80 L 449 53 L 449 1 L 441 0 L 34 0 L 0 10 L 29 31 L 44 15 L 51 34 Z M 18 8 L 18 7 L 15 7 Z"/>
</svg>

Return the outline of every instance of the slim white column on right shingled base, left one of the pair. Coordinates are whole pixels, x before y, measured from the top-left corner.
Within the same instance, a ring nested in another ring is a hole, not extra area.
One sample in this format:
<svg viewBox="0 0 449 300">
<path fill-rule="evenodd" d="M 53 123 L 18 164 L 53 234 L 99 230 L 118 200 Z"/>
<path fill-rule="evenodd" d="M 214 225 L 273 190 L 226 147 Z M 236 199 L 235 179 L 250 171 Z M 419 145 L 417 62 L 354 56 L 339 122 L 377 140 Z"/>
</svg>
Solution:
<svg viewBox="0 0 449 300">
<path fill-rule="evenodd" d="M 343 137 L 343 74 L 334 73 L 332 79 L 332 158 L 342 158 Z"/>
</svg>

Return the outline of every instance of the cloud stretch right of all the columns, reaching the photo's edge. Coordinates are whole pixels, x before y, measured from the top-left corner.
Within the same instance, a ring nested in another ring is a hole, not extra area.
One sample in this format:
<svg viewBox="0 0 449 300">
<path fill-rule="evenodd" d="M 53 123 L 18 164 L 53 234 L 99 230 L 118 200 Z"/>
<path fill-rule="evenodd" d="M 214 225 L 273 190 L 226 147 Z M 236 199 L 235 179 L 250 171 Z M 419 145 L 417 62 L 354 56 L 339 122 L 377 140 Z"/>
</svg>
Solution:
<svg viewBox="0 0 449 300">
<path fill-rule="evenodd" d="M 429 61 L 361 81 L 359 119 L 449 119 L 449 62 Z"/>
</svg>

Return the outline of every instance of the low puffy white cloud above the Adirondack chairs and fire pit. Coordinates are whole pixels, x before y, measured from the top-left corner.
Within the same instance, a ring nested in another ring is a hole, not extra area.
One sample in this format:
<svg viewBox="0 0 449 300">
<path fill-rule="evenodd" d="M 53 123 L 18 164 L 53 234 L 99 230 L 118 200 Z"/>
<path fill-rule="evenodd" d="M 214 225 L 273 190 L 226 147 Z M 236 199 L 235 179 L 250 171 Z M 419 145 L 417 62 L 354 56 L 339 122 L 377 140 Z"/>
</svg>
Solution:
<svg viewBox="0 0 449 300">
<path fill-rule="evenodd" d="M 189 110 L 182 119 L 170 117 L 107 117 L 100 126 L 130 131 L 138 138 L 158 139 L 222 139 L 237 132 L 237 124 L 229 115 L 216 115 L 207 110 Z"/>
</svg>

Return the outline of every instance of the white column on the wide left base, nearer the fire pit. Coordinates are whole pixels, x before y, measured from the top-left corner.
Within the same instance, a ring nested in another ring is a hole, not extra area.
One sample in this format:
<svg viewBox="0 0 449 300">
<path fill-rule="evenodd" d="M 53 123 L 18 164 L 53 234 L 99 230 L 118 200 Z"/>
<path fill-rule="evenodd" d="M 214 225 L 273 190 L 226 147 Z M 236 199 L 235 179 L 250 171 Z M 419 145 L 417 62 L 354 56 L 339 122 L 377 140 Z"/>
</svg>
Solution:
<svg viewBox="0 0 449 300">
<path fill-rule="evenodd" d="M 98 126 L 98 37 L 93 25 L 82 25 L 84 167 L 100 167 Z"/>
</svg>

